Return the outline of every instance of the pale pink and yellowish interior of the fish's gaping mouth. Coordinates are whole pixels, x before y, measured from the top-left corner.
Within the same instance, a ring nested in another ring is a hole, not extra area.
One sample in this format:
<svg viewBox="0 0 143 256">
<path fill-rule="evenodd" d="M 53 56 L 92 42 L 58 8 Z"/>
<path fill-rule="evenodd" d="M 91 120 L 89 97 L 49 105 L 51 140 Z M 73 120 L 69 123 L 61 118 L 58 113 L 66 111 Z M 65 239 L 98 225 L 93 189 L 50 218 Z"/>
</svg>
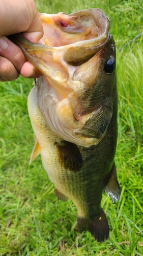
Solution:
<svg viewBox="0 0 143 256">
<path fill-rule="evenodd" d="M 49 39 L 49 46 L 52 47 L 75 42 L 79 42 L 77 46 L 85 46 L 85 40 L 91 39 L 94 39 L 91 44 L 95 47 L 99 42 L 102 44 L 109 30 L 108 18 L 100 9 L 82 10 L 69 15 L 62 12 L 53 15 L 39 13 L 39 16 L 44 28 L 44 38 Z M 89 42 L 88 46 L 90 47 Z"/>
</svg>

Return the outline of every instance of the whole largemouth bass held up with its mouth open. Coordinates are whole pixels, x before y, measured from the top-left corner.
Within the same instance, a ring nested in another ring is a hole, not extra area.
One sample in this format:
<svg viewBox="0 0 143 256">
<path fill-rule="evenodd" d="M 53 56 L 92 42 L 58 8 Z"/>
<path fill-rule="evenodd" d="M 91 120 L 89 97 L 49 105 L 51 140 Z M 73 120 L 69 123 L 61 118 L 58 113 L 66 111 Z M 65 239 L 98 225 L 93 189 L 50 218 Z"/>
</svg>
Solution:
<svg viewBox="0 0 143 256">
<path fill-rule="evenodd" d="M 39 44 L 12 36 L 42 72 L 28 96 L 35 137 L 30 163 L 41 155 L 54 195 L 77 208 L 79 232 L 90 231 L 104 242 L 109 225 L 103 190 L 113 203 L 120 198 L 116 45 L 109 19 L 98 8 L 39 16 L 44 29 Z"/>
</svg>

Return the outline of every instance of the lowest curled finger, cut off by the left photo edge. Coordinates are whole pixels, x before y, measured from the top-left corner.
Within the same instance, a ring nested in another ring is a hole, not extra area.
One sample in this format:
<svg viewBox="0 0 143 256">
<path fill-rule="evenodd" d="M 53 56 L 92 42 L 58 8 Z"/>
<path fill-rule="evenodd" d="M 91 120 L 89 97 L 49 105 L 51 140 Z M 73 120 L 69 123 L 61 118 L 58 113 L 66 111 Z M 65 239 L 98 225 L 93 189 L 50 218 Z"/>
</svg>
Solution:
<svg viewBox="0 0 143 256">
<path fill-rule="evenodd" d="M 19 72 L 15 69 L 12 62 L 3 56 L 0 56 L 0 67 L 1 81 L 12 81 L 19 76 Z"/>
</svg>

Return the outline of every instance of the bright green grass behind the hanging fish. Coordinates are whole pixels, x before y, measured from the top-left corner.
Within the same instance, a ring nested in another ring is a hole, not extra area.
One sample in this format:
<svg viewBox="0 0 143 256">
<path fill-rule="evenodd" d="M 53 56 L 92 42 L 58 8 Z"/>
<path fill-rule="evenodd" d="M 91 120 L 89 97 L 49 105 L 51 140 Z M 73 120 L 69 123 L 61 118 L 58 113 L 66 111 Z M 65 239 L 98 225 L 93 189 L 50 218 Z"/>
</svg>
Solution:
<svg viewBox="0 0 143 256">
<path fill-rule="evenodd" d="M 70 13 L 98 7 L 110 19 L 117 50 L 142 32 L 143 2 L 36 1 L 40 12 Z M 117 53 L 119 136 L 116 152 L 119 202 L 103 194 L 110 225 L 100 244 L 89 232 L 77 232 L 77 211 L 71 201 L 53 195 L 40 156 L 28 165 L 34 144 L 27 113 L 32 80 L 19 77 L 0 85 L 0 255 L 143 255 L 143 36 Z"/>
</svg>

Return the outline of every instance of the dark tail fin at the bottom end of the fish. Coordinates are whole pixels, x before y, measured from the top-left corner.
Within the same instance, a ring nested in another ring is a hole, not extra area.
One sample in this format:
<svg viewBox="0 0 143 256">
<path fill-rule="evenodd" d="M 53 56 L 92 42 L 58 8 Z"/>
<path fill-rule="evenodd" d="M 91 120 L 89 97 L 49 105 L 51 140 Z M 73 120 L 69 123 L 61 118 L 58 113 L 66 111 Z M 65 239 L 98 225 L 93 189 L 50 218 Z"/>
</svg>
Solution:
<svg viewBox="0 0 143 256">
<path fill-rule="evenodd" d="M 100 215 L 90 219 L 78 217 L 77 225 L 79 232 L 90 231 L 97 242 L 104 242 L 109 237 L 109 225 L 103 210 Z"/>
</svg>

